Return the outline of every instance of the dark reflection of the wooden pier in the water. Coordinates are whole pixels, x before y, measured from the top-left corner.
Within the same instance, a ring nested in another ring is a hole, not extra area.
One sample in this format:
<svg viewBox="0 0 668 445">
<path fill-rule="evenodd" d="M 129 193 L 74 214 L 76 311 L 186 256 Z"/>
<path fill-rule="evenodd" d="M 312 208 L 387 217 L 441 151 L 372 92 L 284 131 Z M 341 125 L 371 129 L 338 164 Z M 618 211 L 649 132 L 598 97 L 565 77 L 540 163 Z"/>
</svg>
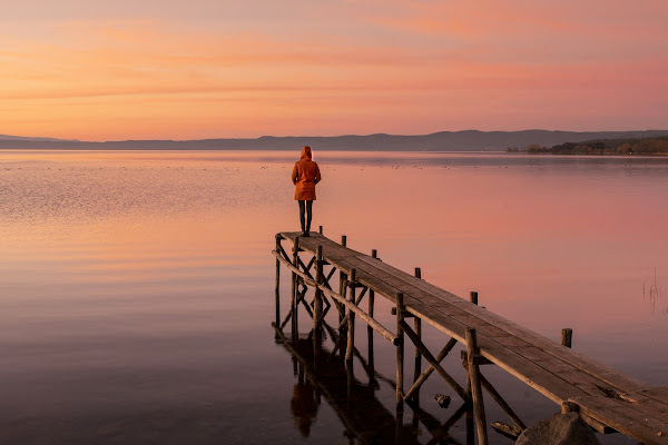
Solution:
<svg viewBox="0 0 668 445">
<path fill-rule="evenodd" d="M 276 327 L 276 326 L 275 326 Z M 326 326 L 330 333 L 334 333 Z M 317 406 L 324 397 L 332 406 L 345 427 L 345 435 L 362 444 L 419 444 L 418 431 L 422 426 L 431 434 L 429 444 L 459 444 L 448 435 L 448 429 L 462 416 L 472 415 L 472 411 L 462 405 L 444 424 L 420 408 L 418 402 L 409 406 L 413 413 L 412 422 L 404 423 L 403 407 L 391 412 L 375 396 L 380 384 L 395 388 L 396 384 L 371 369 L 369 362 L 355 350 L 355 356 L 369 376 L 367 383 L 360 382 L 344 357 L 327 350 L 323 345 L 314 348 L 314 330 L 308 338 L 289 339 L 283 330 L 276 328 L 276 342 L 291 353 L 294 365 L 295 385 L 291 408 L 295 422 L 303 435 L 308 435 L 311 424 L 316 416 Z M 330 336 L 336 344 L 337 337 Z M 372 352 L 373 354 L 373 352 Z M 469 445 L 473 445 L 472 422 Z"/>
</svg>

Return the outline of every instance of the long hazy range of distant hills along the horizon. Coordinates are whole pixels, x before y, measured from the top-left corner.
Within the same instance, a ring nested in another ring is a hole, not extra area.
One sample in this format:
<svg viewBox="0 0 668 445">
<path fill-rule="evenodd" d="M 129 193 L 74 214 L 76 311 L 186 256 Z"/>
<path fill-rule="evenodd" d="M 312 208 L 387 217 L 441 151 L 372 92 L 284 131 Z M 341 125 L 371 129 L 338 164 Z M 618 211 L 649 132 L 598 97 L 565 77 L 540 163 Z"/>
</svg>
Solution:
<svg viewBox="0 0 668 445">
<path fill-rule="evenodd" d="M 48 138 L 0 137 L 0 149 L 82 149 L 82 150 L 292 150 L 310 145 L 316 150 L 375 151 L 495 151 L 551 147 L 566 142 L 600 139 L 637 139 L 668 136 L 668 130 L 646 131 L 441 131 L 423 136 L 367 135 L 333 137 L 273 137 L 257 139 L 124 140 L 87 142 Z"/>
</svg>

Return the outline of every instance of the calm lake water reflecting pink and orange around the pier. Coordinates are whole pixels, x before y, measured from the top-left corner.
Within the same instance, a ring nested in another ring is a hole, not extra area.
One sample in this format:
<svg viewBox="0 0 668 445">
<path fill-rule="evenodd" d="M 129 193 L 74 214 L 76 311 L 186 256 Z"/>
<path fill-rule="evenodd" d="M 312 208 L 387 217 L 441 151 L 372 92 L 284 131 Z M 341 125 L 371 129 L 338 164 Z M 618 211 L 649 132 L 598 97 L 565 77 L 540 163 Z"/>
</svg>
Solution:
<svg viewBox="0 0 668 445">
<path fill-rule="evenodd" d="M 356 363 L 364 413 L 342 414 L 275 342 L 271 251 L 276 233 L 299 228 L 297 156 L 0 151 L 0 443 L 364 443 L 350 418 L 382 443 L 395 428 L 384 378 L 366 385 Z M 667 158 L 314 147 L 314 160 L 312 229 L 421 267 L 459 296 L 475 290 L 489 310 L 557 342 L 570 327 L 573 349 L 668 385 Z M 393 319 L 390 305 L 376 310 Z M 305 338 L 306 318 L 301 327 Z M 424 335 L 436 350 L 448 340 Z M 394 349 L 376 344 L 375 368 L 393 379 Z M 464 382 L 459 350 L 444 365 Z M 335 394 L 345 375 L 331 370 Z M 558 411 L 502 369 L 483 373 L 524 423 Z M 423 387 L 422 408 L 442 424 L 459 406 L 439 407 L 436 393 L 456 396 L 438 376 Z M 487 402 L 489 422 L 509 422 Z M 380 421 L 360 425 L 371 412 Z M 407 407 L 403 424 L 406 443 L 432 441 Z M 448 435 L 441 443 L 465 444 L 464 421 Z"/>
</svg>

